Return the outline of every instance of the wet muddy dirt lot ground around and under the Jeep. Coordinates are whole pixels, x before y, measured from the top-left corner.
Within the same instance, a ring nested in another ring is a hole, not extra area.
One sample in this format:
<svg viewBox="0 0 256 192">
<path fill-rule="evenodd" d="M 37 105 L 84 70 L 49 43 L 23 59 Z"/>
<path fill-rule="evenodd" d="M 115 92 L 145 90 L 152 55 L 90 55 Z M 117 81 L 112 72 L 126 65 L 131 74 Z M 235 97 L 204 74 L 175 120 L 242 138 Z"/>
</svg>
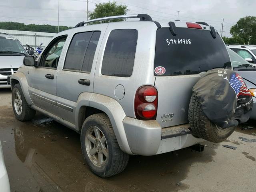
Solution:
<svg viewBox="0 0 256 192">
<path fill-rule="evenodd" d="M 79 135 L 37 114 L 30 122 L 14 118 L 11 92 L 0 90 L 0 140 L 12 192 L 254 192 L 256 142 L 252 130 L 225 142 L 204 142 L 204 152 L 190 148 L 157 156 L 130 156 L 124 172 L 102 179 L 90 172 Z M 256 122 L 250 122 L 256 124 Z M 237 147 L 237 150 L 222 145 Z"/>
</svg>

